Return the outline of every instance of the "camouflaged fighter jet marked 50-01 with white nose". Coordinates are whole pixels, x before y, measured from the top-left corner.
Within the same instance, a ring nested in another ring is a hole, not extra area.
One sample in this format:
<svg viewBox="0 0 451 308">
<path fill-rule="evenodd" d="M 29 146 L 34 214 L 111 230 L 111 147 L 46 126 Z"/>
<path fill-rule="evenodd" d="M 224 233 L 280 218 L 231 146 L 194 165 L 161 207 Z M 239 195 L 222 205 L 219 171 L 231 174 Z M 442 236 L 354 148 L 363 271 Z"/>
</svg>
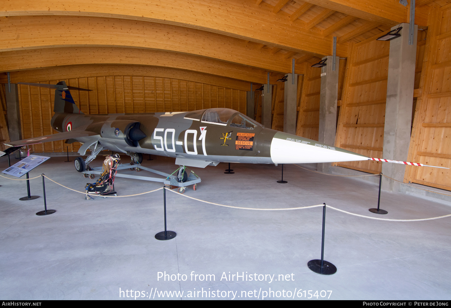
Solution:
<svg viewBox="0 0 451 308">
<path fill-rule="evenodd" d="M 69 90 L 90 91 L 67 86 L 19 82 L 55 89 L 55 107 L 51 126 L 60 131 L 41 137 L 10 142 L 10 146 L 32 145 L 48 141 L 78 141 L 75 168 L 84 172 L 102 149 L 126 153 L 141 163 L 142 154 L 175 158 L 182 166 L 205 168 L 218 163 L 329 163 L 369 160 L 321 142 L 265 128 L 258 122 L 226 108 L 190 112 L 83 114 Z M 373 159 L 380 160 L 380 159 Z M 382 160 L 387 161 L 387 160 Z M 423 164 L 389 161 L 423 166 Z"/>
</svg>

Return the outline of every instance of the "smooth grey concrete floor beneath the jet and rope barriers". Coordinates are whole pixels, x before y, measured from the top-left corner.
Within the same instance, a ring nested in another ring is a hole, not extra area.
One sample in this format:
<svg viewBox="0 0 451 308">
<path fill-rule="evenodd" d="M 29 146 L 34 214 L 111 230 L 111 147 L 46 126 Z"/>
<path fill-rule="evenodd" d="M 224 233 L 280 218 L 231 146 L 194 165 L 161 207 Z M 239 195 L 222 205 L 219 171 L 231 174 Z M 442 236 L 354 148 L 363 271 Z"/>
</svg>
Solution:
<svg viewBox="0 0 451 308">
<path fill-rule="evenodd" d="M 174 159 L 152 158 L 143 165 L 169 173 L 175 170 Z M 88 179 L 74 170 L 73 162 L 64 160 L 52 157 L 30 177 L 45 173 L 83 190 Z M 92 166 L 100 166 L 101 161 L 96 159 Z M 7 166 L 7 159 L 1 158 L 0 170 Z M 285 165 L 288 183 L 279 184 L 280 165 L 232 164 L 235 174 L 230 175 L 223 173 L 226 168 L 226 163 L 193 168 L 202 183 L 196 191 L 187 188 L 185 195 L 254 208 L 325 202 L 352 213 L 392 219 L 451 213 L 449 205 L 382 192 L 381 208 L 389 213 L 377 215 L 368 212 L 377 207 L 378 187 L 371 182 Z M 232 299 L 234 294 L 235 299 L 265 295 L 265 299 L 298 299 L 300 295 L 305 299 L 309 292 L 312 299 L 451 299 L 451 217 L 386 222 L 327 209 L 324 256 L 338 270 L 324 276 L 307 267 L 309 260 L 321 257 L 322 208 L 241 210 L 166 192 L 167 226 L 177 236 L 159 241 L 154 235 L 164 230 L 162 190 L 130 198 L 85 200 L 81 194 L 46 181 L 47 208 L 57 212 L 37 216 L 44 208 L 40 178 L 30 181 L 32 195 L 41 196 L 35 200 L 18 200 L 27 194 L 25 181 L 0 178 L 0 185 L 1 299 L 137 296 L 152 300 L 163 299 L 158 297 L 161 291 L 183 291 L 182 299 L 191 299 L 193 294 L 195 299 L 202 299 L 202 294 L 203 299 L 218 299 L 218 295 Z M 120 195 L 158 187 L 160 183 L 123 178 L 115 182 Z M 176 280 L 168 281 L 170 276 L 166 276 L 164 281 L 158 279 L 158 272 L 180 273 L 186 280 L 172 276 Z M 236 276 L 229 281 L 229 272 L 240 276 L 244 272 L 248 281 L 241 277 L 236 281 Z M 215 281 L 199 281 L 203 276 L 191 273 L 215 275 Z M 227 280 L 221 279 L 223 273 Z M 257 281 L 250 281 L 251 274 Z M 259 281 L 262 277 L 267 280 Z"/>
</svg>

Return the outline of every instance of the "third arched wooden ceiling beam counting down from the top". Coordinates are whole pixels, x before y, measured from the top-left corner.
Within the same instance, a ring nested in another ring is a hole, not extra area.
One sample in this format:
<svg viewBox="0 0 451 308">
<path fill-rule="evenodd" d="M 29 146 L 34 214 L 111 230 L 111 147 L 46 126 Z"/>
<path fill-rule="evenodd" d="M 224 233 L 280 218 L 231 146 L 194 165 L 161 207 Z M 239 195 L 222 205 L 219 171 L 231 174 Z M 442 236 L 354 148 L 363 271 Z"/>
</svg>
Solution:
<svg viewBox="0 0 451 308">
<path fill-rule="evenodd" d="M 234 78 L 238 80 L 265 83 L 266 71 L 243 65 L 226 63 L 187 54 L 166 51 L 140 50 L 136 48 L 112 47 L 60 47 L 36 50 L 15 50 L 0 53 L 0 72 L 14 72 L 33 68 L 78 64 L 135 64 L 179 68 L 194 72 Z"/>
</svg>

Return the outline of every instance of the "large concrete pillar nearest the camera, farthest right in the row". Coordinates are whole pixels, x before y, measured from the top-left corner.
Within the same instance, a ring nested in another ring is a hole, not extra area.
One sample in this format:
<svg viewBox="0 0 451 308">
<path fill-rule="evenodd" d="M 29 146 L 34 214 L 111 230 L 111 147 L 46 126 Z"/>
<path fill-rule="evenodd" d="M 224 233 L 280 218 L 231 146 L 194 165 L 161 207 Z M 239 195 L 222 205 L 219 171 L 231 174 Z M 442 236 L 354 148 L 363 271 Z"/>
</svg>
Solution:
<svg viewBox="0 0 451 308">
<path fill-rule="evenodd" d="M 382 158 L 406 161 L 412 123 L 418 26 L 415 25 L 414 45 L 409 45 L 409 24 L 401 23 L 401 27 L 401 36 L 390 41 Z M 404 172 L 405 165 L 382 163 L 382 173 L 397 181 L 404 180 Z M 383 190 L 399 191 L 399 187 L 400 183 L 396 181 L 386 177 L 382 179 Z"/>
</svg>

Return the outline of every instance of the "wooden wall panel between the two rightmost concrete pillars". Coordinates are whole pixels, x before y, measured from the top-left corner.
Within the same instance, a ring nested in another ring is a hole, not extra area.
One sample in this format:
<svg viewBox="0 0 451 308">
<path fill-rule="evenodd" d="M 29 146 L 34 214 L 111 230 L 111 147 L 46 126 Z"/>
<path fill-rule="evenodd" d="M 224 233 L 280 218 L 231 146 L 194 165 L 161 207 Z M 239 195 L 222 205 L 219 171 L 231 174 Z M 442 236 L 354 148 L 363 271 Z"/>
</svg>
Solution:
<svg viewBox="0 0 451 308">
<path fill-rule="evenodd" d="M 336 146 L 380 157 L 384 139 L 390 43 L 374 36 L 350 45 L 342 92 Z M 334 163 L 364 172 L 381 172 L 374 161 Z"/>
</svg>

